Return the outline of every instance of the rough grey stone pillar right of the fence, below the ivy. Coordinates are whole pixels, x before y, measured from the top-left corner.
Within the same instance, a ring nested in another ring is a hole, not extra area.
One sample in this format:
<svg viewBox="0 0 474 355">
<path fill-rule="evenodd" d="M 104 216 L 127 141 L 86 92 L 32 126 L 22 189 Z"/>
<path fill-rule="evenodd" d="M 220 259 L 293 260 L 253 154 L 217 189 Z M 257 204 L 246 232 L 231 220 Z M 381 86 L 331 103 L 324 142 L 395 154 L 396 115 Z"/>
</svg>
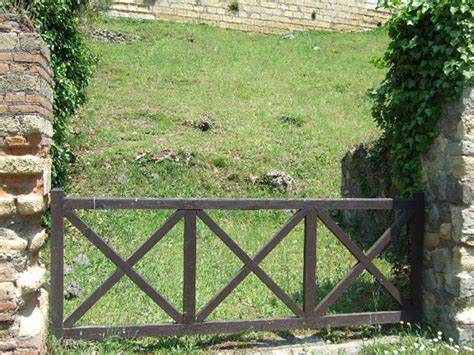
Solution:
<svg viewBox="0 0 474 355">
<path fill-rule="evenodd" d="M 447 336 L 474 333 L 474 90 L 449 105 L 423 159 L 427 186 L 424 310 Z"/>
</svg>

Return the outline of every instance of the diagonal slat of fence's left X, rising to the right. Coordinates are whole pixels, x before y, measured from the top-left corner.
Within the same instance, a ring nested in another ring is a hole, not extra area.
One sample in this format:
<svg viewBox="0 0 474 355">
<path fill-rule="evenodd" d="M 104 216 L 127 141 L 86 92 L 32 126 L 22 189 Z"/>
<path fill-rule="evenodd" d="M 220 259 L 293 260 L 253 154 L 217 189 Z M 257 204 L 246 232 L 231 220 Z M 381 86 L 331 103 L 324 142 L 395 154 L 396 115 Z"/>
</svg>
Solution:
<svg viewBox="0 0 474 355">
<path fill-rule="evenodd" d="M 136 252 L 127 259 L 130 266 L 138 263 L 183 217 L 184 211 L 176 211 L 153 235 L 142 244 Z M 72 327 L 97 301 L 110 290 L 124 276 L 124 272 L 117 269 L 105 282 L 96 289 L 86 300 L 64 321 L 64 326 Z"/>
</svg>

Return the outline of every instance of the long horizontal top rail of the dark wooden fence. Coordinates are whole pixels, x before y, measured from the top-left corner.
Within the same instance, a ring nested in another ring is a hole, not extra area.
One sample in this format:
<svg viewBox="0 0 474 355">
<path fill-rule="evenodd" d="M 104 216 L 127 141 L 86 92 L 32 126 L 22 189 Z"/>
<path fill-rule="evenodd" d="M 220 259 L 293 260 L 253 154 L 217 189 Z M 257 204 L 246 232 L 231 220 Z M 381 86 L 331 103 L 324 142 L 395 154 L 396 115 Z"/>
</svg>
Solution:
<svg viewBox="0 0 474 355">
<path fill-rule="evenodd" d="M 339 198 L 339 199 L 230 199 L 230 198 L 111 198 L 67 197 L 64 209 L 220 209 L 220 210 L 291 210 L 291 209 L 353 209 L 393 210 L 416 209 L 414 199 Z"/>
</svg>

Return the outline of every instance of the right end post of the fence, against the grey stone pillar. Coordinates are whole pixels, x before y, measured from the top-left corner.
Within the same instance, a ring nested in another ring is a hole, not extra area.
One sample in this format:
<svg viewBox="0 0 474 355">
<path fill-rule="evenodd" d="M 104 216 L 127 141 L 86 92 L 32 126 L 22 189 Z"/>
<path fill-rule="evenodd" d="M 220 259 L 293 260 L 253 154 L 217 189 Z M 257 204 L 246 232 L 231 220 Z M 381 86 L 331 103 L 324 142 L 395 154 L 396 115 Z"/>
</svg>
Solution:
<svg viewBox="0 0 474 355">
<path fill-rule="evenodd" d="M 423 316 L 423 248 L 425 230 L 425 196 L 423 192 L 414 195 L 416 212 L 411 225 L 411 270 L 410 284 L 412 291 L 412 317 L 414 321 L 420 321 Z"/>
</svg>

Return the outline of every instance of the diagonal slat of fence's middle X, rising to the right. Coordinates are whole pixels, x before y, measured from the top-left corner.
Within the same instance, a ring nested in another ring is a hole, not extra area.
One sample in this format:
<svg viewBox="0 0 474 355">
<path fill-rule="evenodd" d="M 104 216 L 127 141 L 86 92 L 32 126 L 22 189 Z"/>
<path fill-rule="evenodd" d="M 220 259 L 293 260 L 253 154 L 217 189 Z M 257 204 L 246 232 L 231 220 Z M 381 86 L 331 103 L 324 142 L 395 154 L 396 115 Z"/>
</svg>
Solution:
<svg viewBox="0 0 474 355">
<path fill-rule="evenodd" d="M 265 257 L 280 243 L 283 238 L 291 232 L 291 230 L 303 219 L 305 211 L 298 211 L 290 220 L 281 228 L 272 239 L 257 253 L 254 257 L 255 263 L 260 263 Z M 211 299 L 198 313 L 197 321 L 204 321 L 211 312 L 247 277 L 251 272 L 248 266 L 244 266 L 237 275 L 222 288 L 219 293 Z"/>
</svg>

